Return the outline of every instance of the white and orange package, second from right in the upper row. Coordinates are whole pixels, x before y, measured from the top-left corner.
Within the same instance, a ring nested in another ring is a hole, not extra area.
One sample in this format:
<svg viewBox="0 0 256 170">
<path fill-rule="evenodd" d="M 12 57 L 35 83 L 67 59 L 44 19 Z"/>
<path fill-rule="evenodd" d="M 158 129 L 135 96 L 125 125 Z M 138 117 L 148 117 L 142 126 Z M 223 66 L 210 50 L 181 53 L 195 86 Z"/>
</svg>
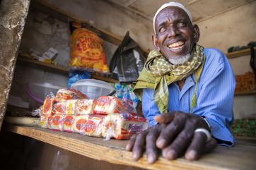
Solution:
<svg viewBox="0 0 256 170">
<path fill-rule="evenodd" d="M 78 99 L 76 102 L 76 114 L 93 114 L 94 99 Z"/>
</svg>

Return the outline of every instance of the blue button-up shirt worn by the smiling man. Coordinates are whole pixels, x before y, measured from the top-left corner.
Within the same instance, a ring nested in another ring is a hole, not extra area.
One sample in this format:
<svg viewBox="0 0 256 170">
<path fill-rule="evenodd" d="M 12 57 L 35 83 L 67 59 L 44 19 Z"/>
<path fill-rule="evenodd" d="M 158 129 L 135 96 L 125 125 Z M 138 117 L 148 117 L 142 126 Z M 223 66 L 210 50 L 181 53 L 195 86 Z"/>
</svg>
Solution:
<svg viewBox="0 0 256 170">
<path fill-rule="evenodd" d="M 218 49 L 204 49 L 206 61 L 197 84 L 197 106 L 193 114 L 204 116 L 211 128 L 214 138 L 231 142 L 233 121 L 233 97 L 235 91 L 235 76 L 227 57 Z M 195 75 L 188 76 L 182 90 L 177 83 L 168 85 L 168 111 L 183 111 L 190 113 L 190 104 L 195 87 Z M 149 126 L 156 125 L 154 116 L 160 114 L 153 100 L 153 90 L 144 89 L 142 111 L 149 121 Z"/>
</svg>

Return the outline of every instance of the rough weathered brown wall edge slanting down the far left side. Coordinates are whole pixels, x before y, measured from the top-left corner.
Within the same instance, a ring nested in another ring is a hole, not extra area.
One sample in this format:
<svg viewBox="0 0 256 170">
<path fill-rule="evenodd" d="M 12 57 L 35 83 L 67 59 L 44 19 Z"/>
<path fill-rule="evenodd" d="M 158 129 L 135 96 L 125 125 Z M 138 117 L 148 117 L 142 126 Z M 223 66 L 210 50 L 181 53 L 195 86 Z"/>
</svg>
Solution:
<svg viewBox="0 0 256 170">
<path fill-rule="evenodd" d="M 3 0 L 0 4 L 0 128 L 29 4 L 29 0 Z"/>
</svg>

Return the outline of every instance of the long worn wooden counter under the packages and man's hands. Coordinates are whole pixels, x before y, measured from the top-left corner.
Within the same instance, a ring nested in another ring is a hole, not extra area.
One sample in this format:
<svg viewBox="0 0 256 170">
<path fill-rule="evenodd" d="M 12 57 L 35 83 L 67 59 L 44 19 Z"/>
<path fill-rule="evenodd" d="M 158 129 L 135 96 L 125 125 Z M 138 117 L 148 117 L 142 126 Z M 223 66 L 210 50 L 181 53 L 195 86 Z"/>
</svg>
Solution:
<svg viewBox="0 0 256 170">
<path fill-rule="evenodd" d="M 104 141 L 103 138 L 55 132 L 37 127 L 8 125 L 6 129 L 86 157 L 142 169 L 256 169 L 254 142 L 238 142 L 235 147 L 218 146 L 214 152 L 206 154 L 199 161 L 189 162 L 184 158 L 168 161 L 160 157 L 155 164 L 147 164 L 145 154 L 138 162 L 132 161 L 132 152 L 124 150 L 127 140 Z"/>
</svg>

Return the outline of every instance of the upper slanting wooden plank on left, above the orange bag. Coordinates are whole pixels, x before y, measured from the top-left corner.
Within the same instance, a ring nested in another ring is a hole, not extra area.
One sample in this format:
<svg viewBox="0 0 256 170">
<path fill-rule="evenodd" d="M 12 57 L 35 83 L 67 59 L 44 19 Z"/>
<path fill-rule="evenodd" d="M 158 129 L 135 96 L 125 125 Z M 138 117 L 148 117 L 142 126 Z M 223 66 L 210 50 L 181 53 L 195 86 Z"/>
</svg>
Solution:
<svg viewBox="0 0 256 170">
<path fill-rule="evenodd" d="M 52 6 L 47 1 L 33 1 L 33 7 L 54 18 L 62 20 L 64 23 L 68 23 L 69 20 L 74 20 L 78 23 L 87 23 L 88 25 L 91 25 L 90 23 L 88 23 L 87 20 L 79 18 L 78 16 L 74 16 L 73 14 L 62 10 L 61 8 L 58 8 L 57 6 Z M 95 28 L 94 26 L 92 27 Z M 95 30 L 97 30 L 97 32 L 100 32 L 100 37 L 107 42 L 111 42 L 112 44 L 116 45 L 120 45 L 122 42 L 122 37 L 118 37 L 111 32 L 107 32 L 106 30 L 102 30 L 100 28 L 95 28 Z"/>
</svg>

